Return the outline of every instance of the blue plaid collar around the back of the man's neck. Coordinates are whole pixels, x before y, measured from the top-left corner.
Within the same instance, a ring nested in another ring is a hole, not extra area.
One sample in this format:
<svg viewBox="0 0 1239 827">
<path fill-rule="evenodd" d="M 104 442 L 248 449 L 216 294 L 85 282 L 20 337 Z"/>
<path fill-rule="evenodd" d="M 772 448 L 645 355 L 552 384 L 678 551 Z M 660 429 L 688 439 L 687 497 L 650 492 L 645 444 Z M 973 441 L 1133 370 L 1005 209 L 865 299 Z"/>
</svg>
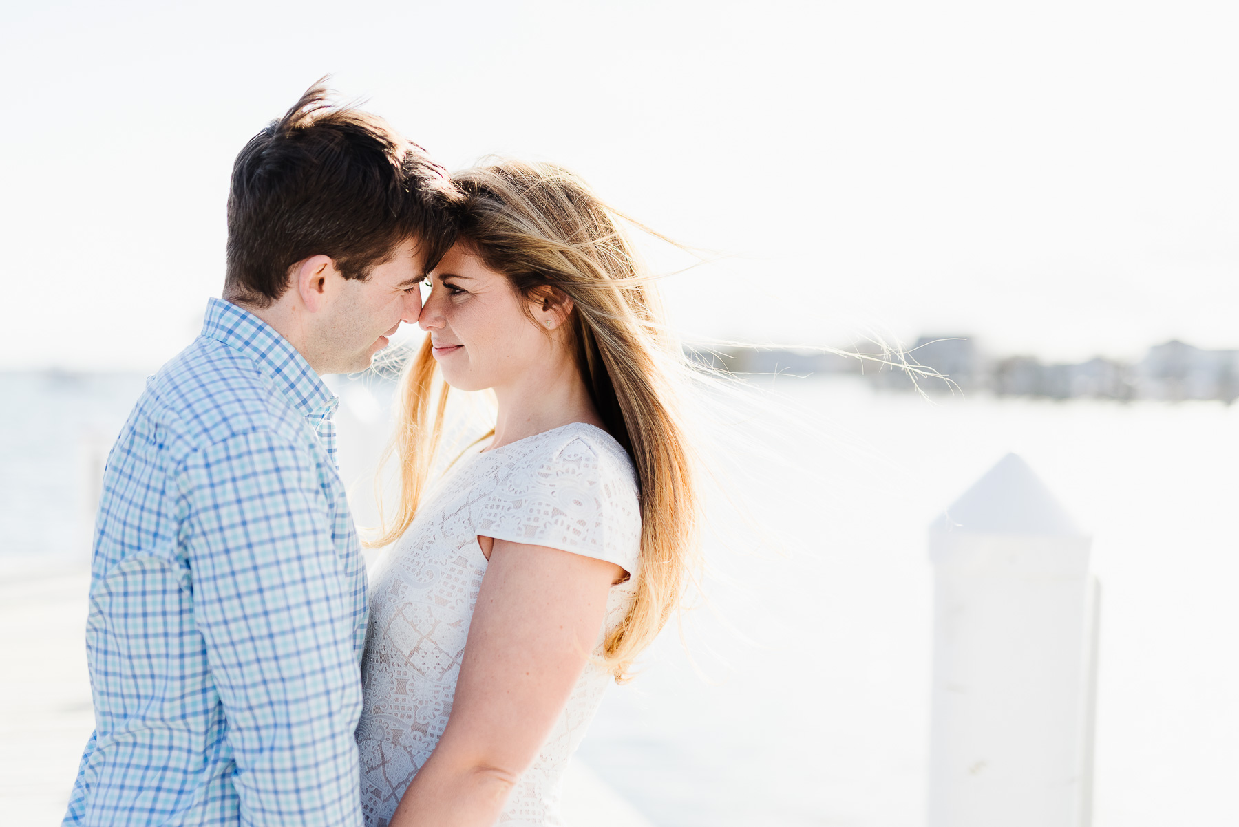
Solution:
<svg viewBox="0 0 1239 827">
<path fill-rule="evenodd" d="M 332 394 L 296 348 L 270 324 L 232 302 L 212 298 L 202 336 L 253 360 L 304 416 L 331 418 L 339 399 Z"/>
</svg>

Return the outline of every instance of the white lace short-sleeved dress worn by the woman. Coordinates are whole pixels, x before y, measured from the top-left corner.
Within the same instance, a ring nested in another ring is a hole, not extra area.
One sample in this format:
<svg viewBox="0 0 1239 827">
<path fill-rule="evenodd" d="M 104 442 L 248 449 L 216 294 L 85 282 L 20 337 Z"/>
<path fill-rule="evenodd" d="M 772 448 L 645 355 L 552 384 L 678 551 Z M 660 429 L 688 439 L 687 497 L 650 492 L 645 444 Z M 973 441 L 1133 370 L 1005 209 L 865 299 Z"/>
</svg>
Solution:
<svg viewBox="0 0 1239 827">
<path fill-rule="evenodd" d="M 627 614 L 641 576 L 632 461 L 608 433 L 576 422 L 461 461 L 419 509 L 370 591 L 357 728 L 367 827 L 392 813 L 447 725 L 486 557 L 477 537 L 563 548 L 617 563 L 598 649 Z M 563 825 L 560 779 L 611 675 L 591 660 L 499 825 Z"/>
</svg>

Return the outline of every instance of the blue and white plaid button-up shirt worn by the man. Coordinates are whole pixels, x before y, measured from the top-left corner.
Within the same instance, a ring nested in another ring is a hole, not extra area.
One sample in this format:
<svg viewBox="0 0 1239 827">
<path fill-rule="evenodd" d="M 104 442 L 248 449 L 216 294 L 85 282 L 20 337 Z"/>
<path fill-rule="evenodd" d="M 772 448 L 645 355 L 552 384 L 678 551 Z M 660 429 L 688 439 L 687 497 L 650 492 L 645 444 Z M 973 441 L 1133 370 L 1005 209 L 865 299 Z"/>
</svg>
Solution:
<svg viewBox="0 0 1239 827">
<path fill-rule="evenodd" d="M 366 569 L 338 400 L 211 300 L 108 458 L 87 652 L 95 730 L 64 825 L 361 825 Z"/>
</svg>

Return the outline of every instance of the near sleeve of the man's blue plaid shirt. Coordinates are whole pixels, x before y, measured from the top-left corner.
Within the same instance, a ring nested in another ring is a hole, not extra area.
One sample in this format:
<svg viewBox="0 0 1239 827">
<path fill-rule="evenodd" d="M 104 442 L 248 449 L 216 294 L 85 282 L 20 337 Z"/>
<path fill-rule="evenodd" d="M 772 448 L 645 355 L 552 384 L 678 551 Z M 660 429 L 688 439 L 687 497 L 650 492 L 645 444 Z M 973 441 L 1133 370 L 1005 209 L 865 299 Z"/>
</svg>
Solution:
<svg viewBox="0 0 1239 827">
<path fill-rule="evenodd" d="M 234 436 L 186 469 L 195 624 L 243 825 L 361 825 L 349 593 L 306 446 Z"/>
</svg>

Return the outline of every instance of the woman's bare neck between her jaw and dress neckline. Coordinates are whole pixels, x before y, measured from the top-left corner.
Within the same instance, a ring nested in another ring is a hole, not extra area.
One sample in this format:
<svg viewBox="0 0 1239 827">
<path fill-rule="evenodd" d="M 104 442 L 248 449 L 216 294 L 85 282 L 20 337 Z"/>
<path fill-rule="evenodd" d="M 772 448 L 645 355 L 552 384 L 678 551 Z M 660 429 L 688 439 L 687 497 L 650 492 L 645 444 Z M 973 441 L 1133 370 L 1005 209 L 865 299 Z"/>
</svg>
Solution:
<svg viewBox="0 0 1239 827">
<path fill-rule="evenodd" d="M 603 427 L 576 365 L 564 360 L 548 368 L 538 375 L 522 376 L 510 385 L 494 389 L 499 412 L 491 448 L 571 422 Z"/>
</svg>

